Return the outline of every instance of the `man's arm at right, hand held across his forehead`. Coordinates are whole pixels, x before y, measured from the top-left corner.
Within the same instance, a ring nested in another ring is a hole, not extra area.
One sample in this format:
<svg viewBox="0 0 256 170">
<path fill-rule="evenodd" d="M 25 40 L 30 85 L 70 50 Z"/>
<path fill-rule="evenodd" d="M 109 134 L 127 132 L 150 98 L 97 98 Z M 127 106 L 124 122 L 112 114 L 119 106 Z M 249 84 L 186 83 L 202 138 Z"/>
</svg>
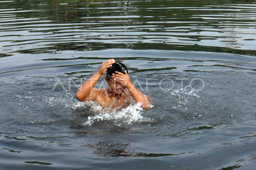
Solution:
<svg viewBox="0 0 256 170">
<path fill-rule="evenodd" d="M 152 103 L 150 103 L 147 97 L 140 93 L 131 83 L 130 78 L 125 70 L 125 74 L 116 71 L 116 74 L 113 73 L 113 78 L 116 82 L 120 83 L 123 87 L 126 87 L 132 95 L 132 98 L 136 103 L 141 103 L 141 107 L 148 109 L 151 107 Z"/>
</svg>

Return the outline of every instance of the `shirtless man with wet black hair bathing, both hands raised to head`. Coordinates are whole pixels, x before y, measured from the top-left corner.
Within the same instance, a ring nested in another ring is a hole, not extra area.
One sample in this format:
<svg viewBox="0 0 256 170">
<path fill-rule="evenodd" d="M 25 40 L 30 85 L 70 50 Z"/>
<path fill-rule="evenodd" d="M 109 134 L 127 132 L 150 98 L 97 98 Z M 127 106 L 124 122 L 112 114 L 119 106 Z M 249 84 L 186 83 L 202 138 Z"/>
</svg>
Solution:
<svg viewBox="0 0 256 170">
<path fill-rule="evenodd" d="M 107 70 L 105 81 L 108 88 L 93 88 Z M 150 108 L 148 96 L 141 94 L 131 83 L 128 71 L 123 63 L 116 63 L 114 59 L 103 62 L 100 69 L 85 81 L 76 92 L 79 101 L 95 101 L 102 107 L 120 107 L 131 100 L 140 103 L 142 108 Z"/>
</svg>

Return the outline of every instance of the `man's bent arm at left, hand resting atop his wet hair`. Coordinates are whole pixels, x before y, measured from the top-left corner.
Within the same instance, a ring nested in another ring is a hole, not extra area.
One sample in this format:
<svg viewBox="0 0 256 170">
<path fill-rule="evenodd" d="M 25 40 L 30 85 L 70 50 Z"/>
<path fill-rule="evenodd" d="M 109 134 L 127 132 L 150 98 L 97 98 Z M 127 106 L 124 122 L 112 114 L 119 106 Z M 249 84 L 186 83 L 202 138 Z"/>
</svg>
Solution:
<svg viewBox="0 0 256 170">
<path fill-rule="evenodd" d="M 105 71 L 112 66 L 113 63 L 115 63 L 114 59 L 103 62 L 100 69 L 79 87 L 76 92 L 76 99 L 79 101 L 94 100 L 95 94 L 92 95 L 94 85 L 97 83 L 100 77 L 104 75 Z"/>
</svg>

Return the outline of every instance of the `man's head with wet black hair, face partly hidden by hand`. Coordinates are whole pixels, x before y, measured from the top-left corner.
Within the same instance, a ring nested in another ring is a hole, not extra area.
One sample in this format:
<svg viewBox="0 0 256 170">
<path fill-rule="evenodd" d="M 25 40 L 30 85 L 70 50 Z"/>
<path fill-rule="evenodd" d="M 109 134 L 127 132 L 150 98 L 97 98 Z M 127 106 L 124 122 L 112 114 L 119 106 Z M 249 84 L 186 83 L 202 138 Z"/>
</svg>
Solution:
<svg viewBox="0 0 256 170">
<path fill-rule="evenodd" d="M 120 83 L 116 82 L 112 78 L 112 74 L 116 74 L 116 71 L 121 72 L 125 74 L 125 70 L 127 71 L 128 74 L 128 69 L 123 63 L 114 63 L 112 64 L 111 67 L 107 69 L 107 77 L 105 77 L 106 82 L 108 83 L 108 89 L 110 92 L 114 94 L 121 94 L 124 92 L 124 89 L 120 85 Z"/>
</svg>

